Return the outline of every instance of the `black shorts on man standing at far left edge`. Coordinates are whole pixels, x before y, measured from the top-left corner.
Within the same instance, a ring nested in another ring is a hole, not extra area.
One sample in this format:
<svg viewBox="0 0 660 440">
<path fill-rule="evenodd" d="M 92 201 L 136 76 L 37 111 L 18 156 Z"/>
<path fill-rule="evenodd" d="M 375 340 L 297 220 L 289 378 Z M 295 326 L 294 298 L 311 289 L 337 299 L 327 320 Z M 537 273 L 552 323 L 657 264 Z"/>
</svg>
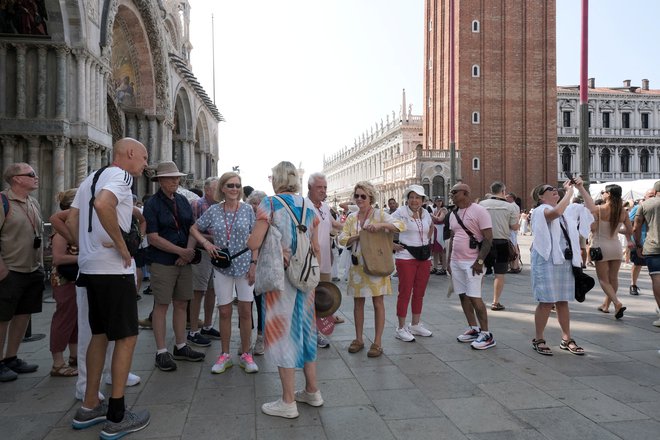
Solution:
<svg viewBox="0 0 660 440">
<path fill-rule="evenodd" d="M 30 273 L 10 270 L 0 281 L 0 322 L 11 321 L 15 315 L 40 313 L 43 293 L 43 269 Z"/>
</svg>

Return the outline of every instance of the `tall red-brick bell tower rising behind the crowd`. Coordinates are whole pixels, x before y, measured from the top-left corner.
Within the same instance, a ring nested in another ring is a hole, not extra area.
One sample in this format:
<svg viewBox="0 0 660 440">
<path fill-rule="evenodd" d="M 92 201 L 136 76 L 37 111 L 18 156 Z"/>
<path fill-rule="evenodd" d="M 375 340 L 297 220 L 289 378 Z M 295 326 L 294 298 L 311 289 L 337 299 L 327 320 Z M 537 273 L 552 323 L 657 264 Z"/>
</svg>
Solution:
<svg viewBox="0 0 660 440">
<path fill-rule="evenodd" d="M 532 207 L 557 182 L 555 0 L 454 0 L 456 177 Z M 449 149 L 450 0 L 425 0 L 425 148 Z"/>
</svg>

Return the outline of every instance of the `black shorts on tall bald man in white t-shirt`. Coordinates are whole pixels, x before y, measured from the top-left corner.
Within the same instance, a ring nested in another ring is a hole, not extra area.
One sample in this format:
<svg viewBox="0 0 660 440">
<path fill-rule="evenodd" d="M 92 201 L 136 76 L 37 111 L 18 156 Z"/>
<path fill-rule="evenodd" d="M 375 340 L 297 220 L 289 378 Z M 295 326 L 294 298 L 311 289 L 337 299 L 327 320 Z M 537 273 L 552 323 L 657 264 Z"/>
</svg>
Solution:
<svg viewBox="0 0 660 440">
<path fill-rule="evenodd" d="M 80 274 L 77 285 L 87 288 L 93 335 L 105 334 L 109 341 L 116 341 L 138 334 L 134 275 Z"/>
</svg>

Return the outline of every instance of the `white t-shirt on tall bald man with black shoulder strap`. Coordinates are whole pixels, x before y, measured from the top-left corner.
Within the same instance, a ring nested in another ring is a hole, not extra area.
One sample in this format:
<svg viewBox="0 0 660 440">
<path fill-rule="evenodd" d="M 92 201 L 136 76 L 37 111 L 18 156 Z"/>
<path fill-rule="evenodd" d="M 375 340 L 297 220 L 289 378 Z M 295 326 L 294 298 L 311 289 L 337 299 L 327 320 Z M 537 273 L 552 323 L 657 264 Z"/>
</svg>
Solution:
<svg viewBox="0 0 660 440">
<path fill-rule="evenodd" d="M 92 232 L 89 228 L 89 201 L 92 198 L 92 180 L 96 172 L 87 176 L 73 199 L 72 207 L 80 210 L 78 226 L 78 266 L 85 274 L 132 274 L 131 267 L 124 267 L 121 254 L 114 247 L 104 247 L 103 243 L 112 243 L 112 239 L 101 226 L 96 211 L 92 214 Z M 96 195 L 105 189 L 117 197 L 117 218 L 122 231 L 131 227 L 133 215 L 133 195 L 131 185 L 133 177 L 118 167 L 108 167 L 96 182 Z"/>
</svg>

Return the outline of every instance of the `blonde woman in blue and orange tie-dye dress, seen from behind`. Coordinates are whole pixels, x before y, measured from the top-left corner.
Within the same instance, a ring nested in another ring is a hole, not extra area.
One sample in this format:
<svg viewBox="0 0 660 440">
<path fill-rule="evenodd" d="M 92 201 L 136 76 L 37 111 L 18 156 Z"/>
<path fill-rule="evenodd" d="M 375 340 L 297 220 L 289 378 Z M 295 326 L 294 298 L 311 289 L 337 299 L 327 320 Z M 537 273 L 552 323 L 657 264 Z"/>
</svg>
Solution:
<svg viewBox="0 0 660 440">
<path fill-rule="evenodd" d="M 272 170 L 275 194 L 301 218 L 303 198 L 298 172 L 290 162 L 280 162 Z M 319 255 L 316 225 L 319 220 L 313 206 L 306 206 L 307 233 L 312 247 Z M 269 227 L 282 233 L 285 260 L 292 254 L 296 225 L 282 203 L 274 197 L 266 197 L 257 209 L 257 222 L 248 239 L 250 249 L 258 249 Z M 264 403 L 264 414 L 277 417 L 298 417 L 296 402 L 312 406 L 323 405 L 321 392 L 316 385 L 316 321 L 314 315 L 314 291 L 302 292 L 284 277 L 284 291 L 264 293 L 264 344 L 266 356 L 278 367 L 282 382 L 282 397 L 275 402 Z M 295 391 L 295 369 L 303 368 L 305 388 Z"/>
</svg>

